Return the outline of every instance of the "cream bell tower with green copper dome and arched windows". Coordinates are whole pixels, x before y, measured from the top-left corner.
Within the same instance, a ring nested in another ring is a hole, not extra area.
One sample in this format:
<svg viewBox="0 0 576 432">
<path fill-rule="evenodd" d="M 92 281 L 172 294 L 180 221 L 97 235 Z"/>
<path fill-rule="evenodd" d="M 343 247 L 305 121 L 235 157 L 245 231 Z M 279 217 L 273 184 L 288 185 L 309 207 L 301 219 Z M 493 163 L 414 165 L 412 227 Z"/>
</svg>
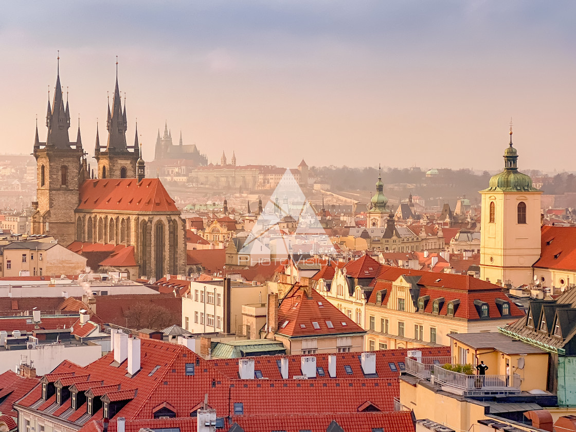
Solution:
<svg viewBox="0 0 576 432">
<path fill-rule="evenodd" d="M 540 258 L 540 195 L 532 179 L 518 171 L 518 151 L 504 151 L 504 170 L 492 176 L 482 195 L 480 278 L 497 284 L 530 283 Z"/>
</svg>

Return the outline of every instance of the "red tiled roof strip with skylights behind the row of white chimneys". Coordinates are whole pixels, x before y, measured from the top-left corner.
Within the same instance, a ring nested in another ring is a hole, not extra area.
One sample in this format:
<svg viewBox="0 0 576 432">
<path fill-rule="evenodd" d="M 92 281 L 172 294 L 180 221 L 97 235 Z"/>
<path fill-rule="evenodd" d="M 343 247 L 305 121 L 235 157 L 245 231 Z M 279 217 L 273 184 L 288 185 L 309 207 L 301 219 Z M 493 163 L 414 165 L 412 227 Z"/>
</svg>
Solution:
<svg viewBox="0 0 576 432">
<path fill-rule="evenodd" d="M 450 347 L 426 347 L 419 348 L 422 350 L 424 357 L 448 357 L 450 355 Z M 406 348 L 399 350 L 382 350 L 375 351 L 376 353 L 376 373 L 380 378 L 397 378 L 402 372 L 401 365 L 398 362 L 404 362 L 407 355 Z M 302 357 L 316 357 L 316 367 L 321 367 L 324 371 L 325 377 L 328 378 L 328 357 L 330 354 L 312 354 L 312 355 L 263 355 L 254 357 L 254 370 L 260 370 L 263 378 L 270 380 L 280 380 L 282 374 L 279 361 L 282 358 L 288 359 L 288 376 L 302 375 L 301 358 Z M 336 378 L 359 378 L 365 380 L 365 375 L 362 371 L 362 366 L 359 358 L 359 353 L 334 353 L 336 355 Z M 214 359 L 210 360 L 211 366 L 225 374 L 229 378 L 238 377 L 238 358 L 230 359 Z M 389 363 L 394 363 L 396 371 L 393 371 Z M 347 373 L 344 366 L 350 366 L 352 373 Z M 318 372 L 316 378 L 321 377 Z M 334 378 L 331 378 L 334 379 Z"/>
</svg>

